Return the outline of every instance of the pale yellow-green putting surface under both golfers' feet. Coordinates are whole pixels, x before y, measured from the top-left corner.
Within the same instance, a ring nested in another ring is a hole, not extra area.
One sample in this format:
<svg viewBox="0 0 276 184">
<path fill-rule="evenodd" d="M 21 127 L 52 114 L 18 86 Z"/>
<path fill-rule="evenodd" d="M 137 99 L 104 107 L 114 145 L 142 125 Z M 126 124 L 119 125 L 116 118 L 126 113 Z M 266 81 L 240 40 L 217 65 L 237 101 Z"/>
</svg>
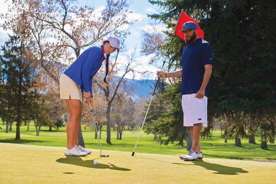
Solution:
<svg viewBox="0 0 276 184">
<path fill-rule="evenodd" d="M 65 156 L 64 147 L 0 143 L 1 183 L 276 183 L 275 162 L 102 150 Z M 98 161 L 98 165 L 93 165 Z"/>
</svg>

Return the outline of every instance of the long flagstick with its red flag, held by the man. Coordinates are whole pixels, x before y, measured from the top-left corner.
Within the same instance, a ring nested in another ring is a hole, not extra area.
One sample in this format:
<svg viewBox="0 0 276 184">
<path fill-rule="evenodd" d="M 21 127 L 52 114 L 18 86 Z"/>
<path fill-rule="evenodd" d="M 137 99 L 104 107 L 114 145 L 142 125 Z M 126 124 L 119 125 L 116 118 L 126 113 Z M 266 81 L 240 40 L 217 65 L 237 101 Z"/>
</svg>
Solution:
<svg viewBox="0 0 276 184">
<path fill-rule="evenodd" d="M 181 10 L 181 13 L 180 13 L 180 15 L 179 15 L 179 18 L 178 18 L 178 21 L 177 21 L 177 24 L 176 24 L 176 27 L 175 27 L 175 30 L 174 30 L 174 33 L 173 33 L 173 37 L 174 37 L 174 35 L 177 35 L 177 36 L 179 36 L 181 39 L 183 39 L 183 40 L 185 41 L 185 36 L 184 36 L 184 34 L 183 34 L 183 33 L 179 33 L 179 31 L 182 30 L 182 25 L 183 25 L 185 22 L 187 22 L 187 21 L 193 21 L 194 23 L 197 24 L 197 28 L 198 28 L 198 32 L 197 32 L 197 33 L 198 33 L 198 36 L 201 37 L 202 39 L 204 39 L 203 31 L 200 29 L 198 23 L 197 23 L 194 19 L 192 19 L 189 15 L 187 15 L 187 14 L 183 11 L 183 9 Z M 171 38 L 171 43 L 172 43 L 172 41 L 173 41 L 173 37 Z M 167 53 L 166 53 L 166 55 L 165 55 L 165 58 L 164 58 L 164 61 L 163 61 L 163 65 L 162 65 L 162 68 L 161 68 L 160 71 L 163 70 L 164 64 L 165 64 L 166 59 L 167 59 L 167 57 L 168 57 L 169 49 L 170 49 L 170 47 L 171 47 L 171 43 L 170 43 L 169 48 L 168 48 L 168 51 L 167 51 Z M 156 89 L 156 87 L 157 87 L 158 81 L 159 81 L 159 77 L 158 77 L 158 79 L 157 79 L 155 88 L 154 88 L 154 90 L 153 90 L 153 93 L 152 93 L 152 96 L 151 96 L 151 101 L 152 101 L 152 99 L 153 99 L 153 95 L 154 95 L 155 89 Z M 149 102 L 149 107 L 151 106 L 151 101 Z M 139 133 L 139 135 L 138 135 L 138 139 L 137 139 L 136 145 L 135 145 L 134 150 L 133 150 L 133 152 L 132 152 L 132 156 L 134 156 L 135 149 L 136 149 L 136 146 L 137 146 L 137 143 L 138 143 L 138 140 L 139 140 L 141 131 L 142 131 L 142 129 L 143 129 L 143 126 L 144 126 L 144 123 L 145 123 L 145 120 L 146 120 L 146 117 L 147 117 L 147 113 L 148 113 L 148 111 L 149 111 L 149 107 L 148 107 L 148 109 L 147 109 L 147 112 L 146 112 L 146 115 L 145 115 L 145 118 L 144 118 L 144 121 L 143 121 L 141 130 L 140 130 L 140 133 Z M 92 109 L 91 109 L 91 112 L 92 112 Z M 94 120 L 94 121 L 95 121 L 95 120 Z"/>
</svg>

